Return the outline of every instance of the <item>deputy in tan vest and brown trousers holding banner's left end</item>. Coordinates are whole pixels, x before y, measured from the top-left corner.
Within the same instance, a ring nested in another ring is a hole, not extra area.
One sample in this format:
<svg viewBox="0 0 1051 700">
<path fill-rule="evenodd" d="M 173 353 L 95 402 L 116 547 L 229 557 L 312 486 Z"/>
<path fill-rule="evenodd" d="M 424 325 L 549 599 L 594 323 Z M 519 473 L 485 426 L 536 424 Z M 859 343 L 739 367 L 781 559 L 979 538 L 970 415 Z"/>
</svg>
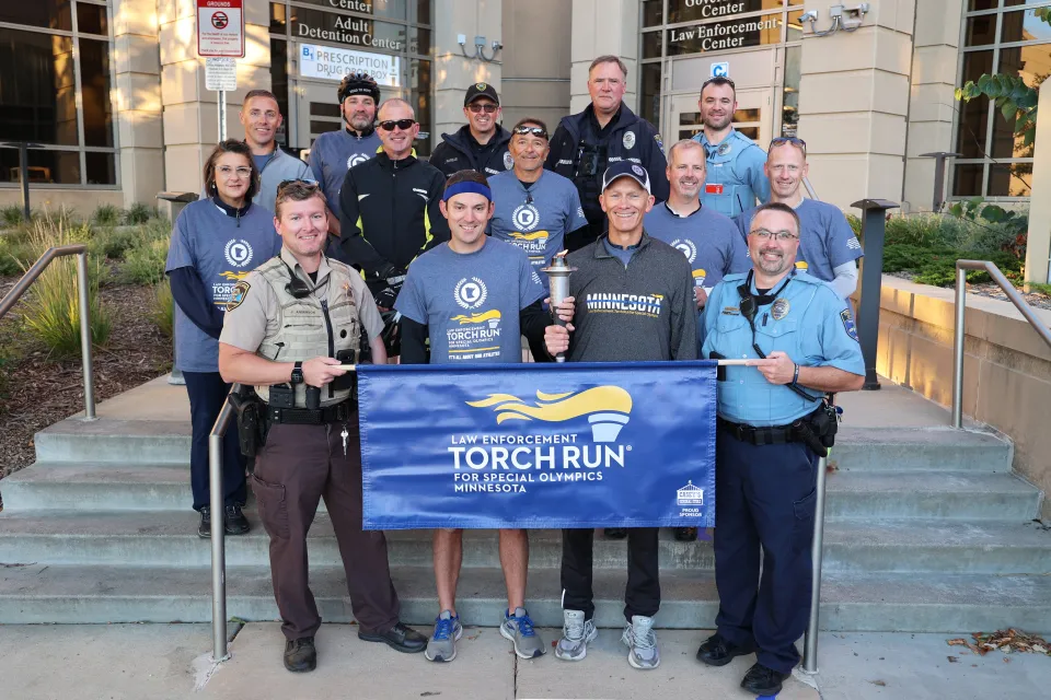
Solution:
<svg viewBox="0 0 1051 700">
<path fill-rule="evenodd" d="M 399 621 L 386 539 L 361 529 L 357 402 L 351 385 L 338 380 L 346 372 L 335 359 L 359 349 L 363 327 L 373 361 L 385 362 L 383 323 L 360 276 L 322 254 L 327 220 L 317 185 L 282 184 L 275 209 L 281 253 L 234 289 L 219 338 L 219 372 L 227 382 L 255 385 L 267 402 L 269 432 L 252 488 L 270 536 L 274 596 L 288 640 L 285 667 L 316 665 L 321 616 L 308 585 L 307 532 L 321 498 L 339 544 L 358 638 L 421 652 L 426 638 Z M 308 408 L 315 390 L 317 405 Z"/>
</svg>

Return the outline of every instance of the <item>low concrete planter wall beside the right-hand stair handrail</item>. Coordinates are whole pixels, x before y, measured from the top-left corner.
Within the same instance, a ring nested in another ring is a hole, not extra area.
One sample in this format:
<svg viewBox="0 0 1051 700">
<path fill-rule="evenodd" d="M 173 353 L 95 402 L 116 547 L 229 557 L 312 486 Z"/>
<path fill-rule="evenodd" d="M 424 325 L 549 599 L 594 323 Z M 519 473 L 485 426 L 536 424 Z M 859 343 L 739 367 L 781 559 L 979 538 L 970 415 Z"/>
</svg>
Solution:
<svg viewBox="0 0 1051 700">
<path fill-rule="evenodd" d="M 876 369 L 943 405 L 952 402 L 954 290 L 883 276 Z M 1051 311 L 1037 310 L 1051 326 Z M 1015 443 L 1014 469 L 1051 493 L 1051 348 L 1010 302 L 968 294 L 963 413 Z M 1051 517 L 1051 503 L 1043 503 Z"/>
</svg>

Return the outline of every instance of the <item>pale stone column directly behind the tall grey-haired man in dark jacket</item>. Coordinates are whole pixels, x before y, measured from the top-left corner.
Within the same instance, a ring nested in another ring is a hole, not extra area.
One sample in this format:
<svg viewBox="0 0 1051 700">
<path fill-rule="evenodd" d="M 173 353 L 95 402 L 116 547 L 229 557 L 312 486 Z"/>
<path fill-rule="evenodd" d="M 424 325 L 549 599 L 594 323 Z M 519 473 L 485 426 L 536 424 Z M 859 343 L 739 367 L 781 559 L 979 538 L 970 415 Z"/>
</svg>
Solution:
<svg viewBox="0 0 1051 700">
<path fill-rule="evenodd" d="M 620 56 L 627 66 L 624 104 L 637 112 L 638 2 L 636 0 L 573 0 L 573 67 L 569 80 L 569 113 L 591 104 L 588 67 L 598 56 Z"/>
</svg>

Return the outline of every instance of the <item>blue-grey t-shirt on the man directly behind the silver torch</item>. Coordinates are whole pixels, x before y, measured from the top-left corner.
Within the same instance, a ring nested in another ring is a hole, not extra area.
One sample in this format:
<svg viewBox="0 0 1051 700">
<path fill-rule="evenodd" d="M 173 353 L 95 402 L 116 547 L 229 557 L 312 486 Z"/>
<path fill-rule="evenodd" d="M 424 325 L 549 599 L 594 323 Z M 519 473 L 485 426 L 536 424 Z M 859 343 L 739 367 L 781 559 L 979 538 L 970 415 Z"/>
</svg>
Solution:
<svg viewBox="0 0 1051 700">
<path fill-rule="evenodd" d="M 588 224 L 576 185 L 558 173 L 544 171 L 527 189 L 507 171 L 489 177 L 489 189 L 495 205 L 489 233 L 524 250 L 538 270 L 551 265 L 567 233 Z M 541 281 L 547 291 L 547 276 L 541 273 Z"/>
</svg>

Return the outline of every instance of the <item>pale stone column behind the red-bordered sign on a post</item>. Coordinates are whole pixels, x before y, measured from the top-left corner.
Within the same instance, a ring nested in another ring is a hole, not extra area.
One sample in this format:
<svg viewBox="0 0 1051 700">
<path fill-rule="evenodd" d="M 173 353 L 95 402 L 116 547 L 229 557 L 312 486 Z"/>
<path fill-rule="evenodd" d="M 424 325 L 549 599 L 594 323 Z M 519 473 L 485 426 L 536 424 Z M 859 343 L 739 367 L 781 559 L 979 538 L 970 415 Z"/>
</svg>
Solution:
<svg viewBox="0 0 1051 700">
<path fill-rule="evenodd" d="M 227 138 L 241 139 L 238 112 L 250 90 L 270 89 L 269 5 L 246 0 L 245 57 L 238 61 L 238 90 L 227 93 Z M 198 192 L 201 170 L 219 138 L 219 93 L 205 88 L 205 59 L 197 57 L 193 0 L 159 0 L 164 171 L 168 189 Z"/>
</svg>

